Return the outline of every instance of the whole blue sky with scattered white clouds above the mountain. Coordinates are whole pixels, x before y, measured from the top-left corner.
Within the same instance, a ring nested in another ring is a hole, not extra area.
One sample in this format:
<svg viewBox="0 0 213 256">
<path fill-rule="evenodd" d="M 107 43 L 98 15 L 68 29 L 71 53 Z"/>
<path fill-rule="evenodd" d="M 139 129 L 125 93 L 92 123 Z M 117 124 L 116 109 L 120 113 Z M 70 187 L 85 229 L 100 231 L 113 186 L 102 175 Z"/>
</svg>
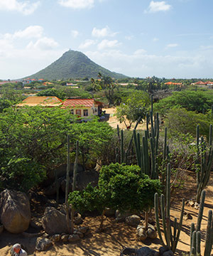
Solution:
<svg viewBox="0 0 213 256">
<path fill-rule="evenodd" d="M 0 0 L 0 79 L 79 50 L 130 77 L 213 78 L 212 0 Z"/>
</svg>

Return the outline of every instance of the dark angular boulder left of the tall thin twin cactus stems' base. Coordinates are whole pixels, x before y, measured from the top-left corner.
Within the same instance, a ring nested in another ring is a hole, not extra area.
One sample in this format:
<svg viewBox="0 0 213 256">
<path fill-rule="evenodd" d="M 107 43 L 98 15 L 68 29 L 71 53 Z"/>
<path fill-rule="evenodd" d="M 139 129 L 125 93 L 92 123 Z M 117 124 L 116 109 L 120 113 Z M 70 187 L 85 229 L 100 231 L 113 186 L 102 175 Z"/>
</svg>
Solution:
<svg viewBox="0 0 213 256">
<path fill-rule="evenodd" d="M 47 207 L 42 218 L 42 226 L 49 235 L 67 233 L 66 216 L 53 207 Z"/>
</svg>

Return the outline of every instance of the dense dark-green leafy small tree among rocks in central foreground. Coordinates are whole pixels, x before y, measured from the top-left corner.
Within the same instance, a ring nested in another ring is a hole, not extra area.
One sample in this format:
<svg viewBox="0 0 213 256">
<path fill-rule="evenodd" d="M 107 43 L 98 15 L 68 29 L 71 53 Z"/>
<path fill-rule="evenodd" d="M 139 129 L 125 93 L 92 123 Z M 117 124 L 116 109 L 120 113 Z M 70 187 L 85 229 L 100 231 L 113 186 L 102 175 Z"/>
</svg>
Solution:
<svg viewBox="0 0 213 256">
<path fill-rule="evenodd" d="M 105 208 L 124 210 L 150 210 L 153 208 L 154 194 L 160 193 L 158 180 L 147 175 L 139 176 L 138 166 L 110 164 L 103 166 L 99 175 L 98 188 L 87 186 L 84 191 L 70 193 L 69 202 L 76 209 L 99 210 L 102 213 L 102 228 Z"/>
</svg>

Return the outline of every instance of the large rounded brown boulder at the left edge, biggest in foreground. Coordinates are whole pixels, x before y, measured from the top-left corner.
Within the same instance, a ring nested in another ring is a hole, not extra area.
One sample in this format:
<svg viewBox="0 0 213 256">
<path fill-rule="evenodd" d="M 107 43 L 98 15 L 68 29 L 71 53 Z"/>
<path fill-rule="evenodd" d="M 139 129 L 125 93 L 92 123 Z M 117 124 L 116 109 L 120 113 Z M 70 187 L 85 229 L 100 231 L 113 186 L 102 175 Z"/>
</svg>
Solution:
<svg viewBox="0 0 213 256">
<path fill-rule="evenodd" d="M 1 223 L 10 233 L 22 233 L 31 222 L 31 207 L 28 197 L 20 191 L 1 192 Z"/>
</svg>

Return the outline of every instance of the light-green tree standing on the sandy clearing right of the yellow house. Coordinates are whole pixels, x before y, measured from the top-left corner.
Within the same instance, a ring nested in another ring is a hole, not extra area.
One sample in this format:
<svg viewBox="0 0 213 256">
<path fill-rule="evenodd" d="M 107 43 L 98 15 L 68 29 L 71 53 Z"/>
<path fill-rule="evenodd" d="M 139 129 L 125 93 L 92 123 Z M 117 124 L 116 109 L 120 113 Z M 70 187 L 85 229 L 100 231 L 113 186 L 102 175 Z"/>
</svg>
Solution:
<svg viewBox="0 0 213 256">
<path fill-rule="evenodd" d="M 146 92 L 133 92 L 129 97 L 116 107 L 116 117 L 120 122 L 124 122 L 127 127 L 131 127 L 138 117 L 144 119 L 150 105 L 150 98 Z M 128 121 L 128 122 L 127 122 Z"/>
</svg>

